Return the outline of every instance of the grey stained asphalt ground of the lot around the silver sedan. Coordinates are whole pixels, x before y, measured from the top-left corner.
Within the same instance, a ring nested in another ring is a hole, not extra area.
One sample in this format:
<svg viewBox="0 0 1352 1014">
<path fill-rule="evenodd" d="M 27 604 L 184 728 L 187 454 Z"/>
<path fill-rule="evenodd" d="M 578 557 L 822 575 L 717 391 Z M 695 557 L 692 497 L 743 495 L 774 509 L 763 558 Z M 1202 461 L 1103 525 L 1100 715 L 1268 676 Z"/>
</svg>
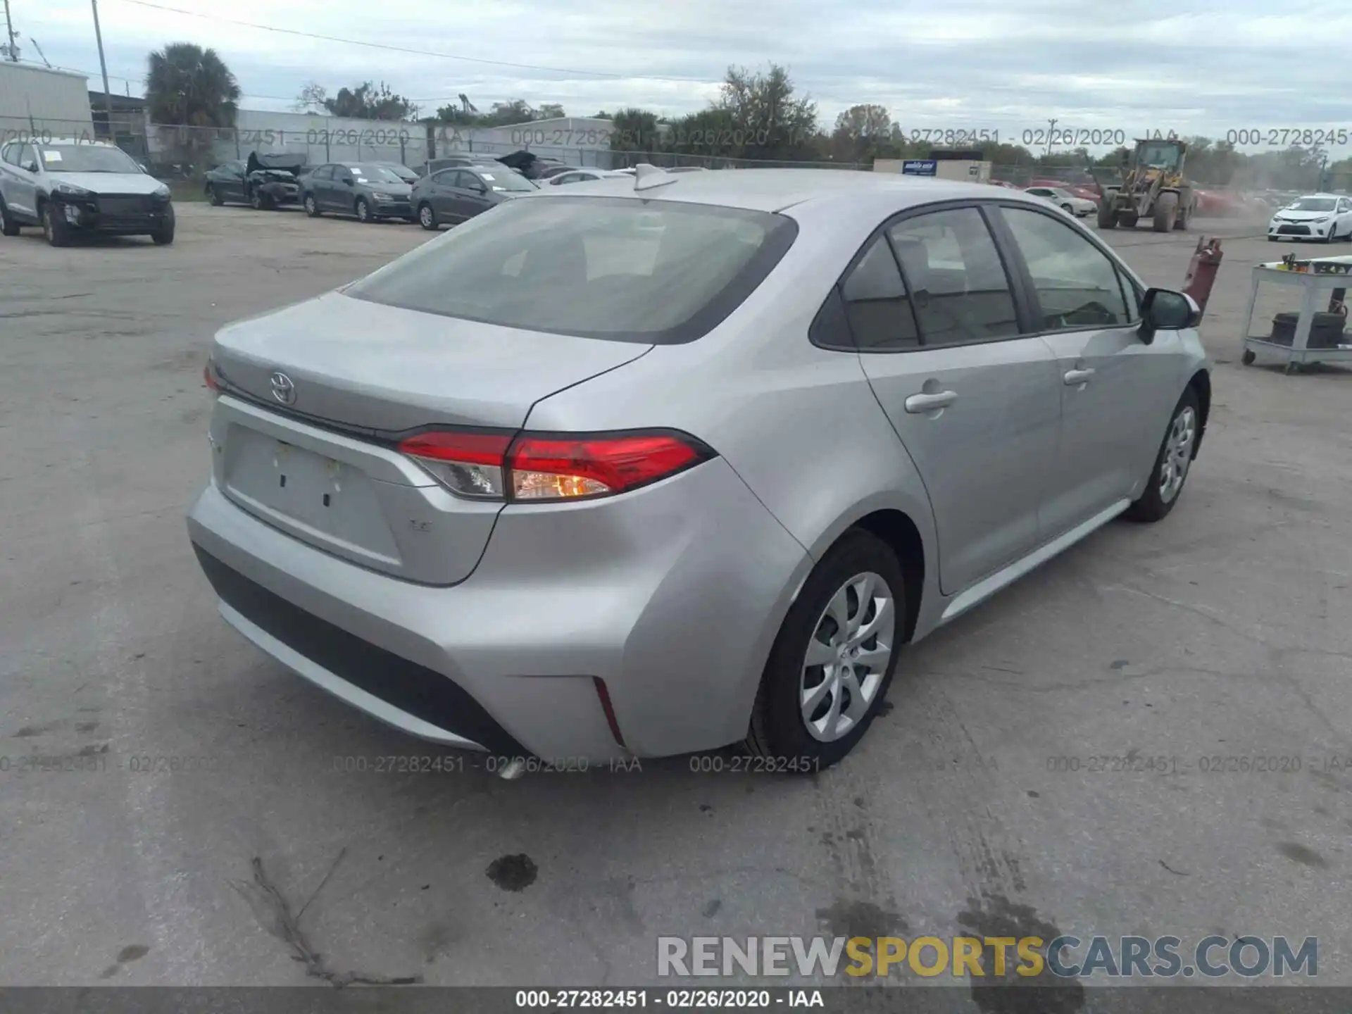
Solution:
<svg viewBox="0 0 1352 1014">
<path fill-rule="evenodd" d="M 231 631 L 184 529 L 214 330 L 429 234 L 184 206 L 172 247 L 0 239 L 0 983 L 303 983 L 304 945 L 339 976 L 644 984 L 665 934 L 973 930 L 1317 936 L 1352 983 L 1352 373 L 1240 365 L 1261 226 L 1107 238 L 1179 287 L 1203 233 L 1214 408 L 1168 519 L 910 649 L 837 769 L 516 781 L 377 771 L 453 754 Z"/>
</svg>

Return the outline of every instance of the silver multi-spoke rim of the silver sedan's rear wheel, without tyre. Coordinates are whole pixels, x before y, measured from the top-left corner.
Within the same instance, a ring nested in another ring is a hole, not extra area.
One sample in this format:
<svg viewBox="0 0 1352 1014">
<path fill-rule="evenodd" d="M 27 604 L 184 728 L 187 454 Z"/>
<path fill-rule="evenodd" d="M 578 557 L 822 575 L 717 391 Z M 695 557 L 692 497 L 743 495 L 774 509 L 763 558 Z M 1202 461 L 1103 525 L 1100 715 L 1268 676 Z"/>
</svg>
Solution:
<svg viewBox="0 0 1352 1014">
<path fill-rule="evenodd" d="M 879 575 L 845 581 L 817 621 L 799 676 L 808 734 L 833 742 L 868 715 L 892 657 L 896 604 Z"/>
</svg>

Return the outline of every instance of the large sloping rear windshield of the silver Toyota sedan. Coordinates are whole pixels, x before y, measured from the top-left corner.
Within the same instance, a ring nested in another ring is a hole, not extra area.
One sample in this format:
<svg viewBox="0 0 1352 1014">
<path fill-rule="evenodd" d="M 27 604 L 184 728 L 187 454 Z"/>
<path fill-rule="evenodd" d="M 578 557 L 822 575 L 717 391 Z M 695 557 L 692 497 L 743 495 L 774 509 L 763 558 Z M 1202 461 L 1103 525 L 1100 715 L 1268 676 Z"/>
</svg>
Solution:
<svg viewBox="0 0 1352 1014">
<path fill-rule="evenodd" d="M 798 226 L 740 208 L 523 197 L 345 289 L 375 303 L 583 338 L 675 345 L 707 334 Z"/>
</svg>

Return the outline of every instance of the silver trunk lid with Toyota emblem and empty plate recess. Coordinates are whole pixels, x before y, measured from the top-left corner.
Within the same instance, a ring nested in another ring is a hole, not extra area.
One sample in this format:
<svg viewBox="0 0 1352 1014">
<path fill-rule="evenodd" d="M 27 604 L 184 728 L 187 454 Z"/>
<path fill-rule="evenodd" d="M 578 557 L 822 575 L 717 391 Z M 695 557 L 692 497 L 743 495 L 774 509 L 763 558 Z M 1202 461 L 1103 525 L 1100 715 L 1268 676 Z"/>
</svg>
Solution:
<svg viewBox="0 0 1352 1014">
<path fill-rule="evenodd" d="M 539 399 L 650 347 L 338 292 L 307 300 L 218 333 L 215 480 L 241 508 L 310 545 L 407 580 L 454 584 L 479 562 L 502 504 L 452 496 L 395 449 L 396 434 L 516 429 Z M 287 381 L 274 385 L 279 373 Z"/>
</svg>

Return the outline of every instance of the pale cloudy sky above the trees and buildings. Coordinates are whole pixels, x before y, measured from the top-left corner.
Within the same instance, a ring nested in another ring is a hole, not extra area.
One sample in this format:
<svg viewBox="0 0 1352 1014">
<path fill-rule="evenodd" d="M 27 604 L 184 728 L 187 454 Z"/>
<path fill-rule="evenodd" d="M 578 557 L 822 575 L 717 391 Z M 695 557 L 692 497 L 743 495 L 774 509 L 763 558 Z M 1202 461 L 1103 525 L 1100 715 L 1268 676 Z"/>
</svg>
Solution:
<svg viewBox="0 0 1352 1014">
<path fill-rule="evenodd" d="M 92 72 L 99 88 L 87 0 L 9 3 L 24 58 L 37 58 L 35 38 L 53 65 Z M 289 108 L 310 81 L 333 93 L 372 78 L 427 112 L 465 92 L 483 110 L 522 97 L 577 115 L 627 104 L 681 114 L 717 93 L 730 64 L 775 61 L 827 124 L 868 101 L 904 128 L 999 130 L 1015 142 L 1051 118 L 1128 138 L 1352 130 L 1352 5 L 1311 0 L 157 3 L 100 0 L 114 91 L 139 95 L 146 53 L 187 41 L 216 49 L 254 110 Z"/>
</svg>

